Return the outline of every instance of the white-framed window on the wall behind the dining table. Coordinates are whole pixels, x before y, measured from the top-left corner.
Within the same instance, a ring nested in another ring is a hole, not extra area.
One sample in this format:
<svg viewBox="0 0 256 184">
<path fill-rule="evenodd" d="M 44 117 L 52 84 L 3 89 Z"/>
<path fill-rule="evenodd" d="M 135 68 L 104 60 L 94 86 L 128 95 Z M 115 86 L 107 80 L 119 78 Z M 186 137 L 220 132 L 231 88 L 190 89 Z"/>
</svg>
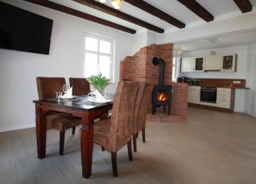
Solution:
<svg viewBox="0 0 256 184">
<path fill-rule="evenodd" d="M 97 35 L 85 37 L 84 78 L 102 73 L 113 78 L 113 40 Z"/>
</svg>

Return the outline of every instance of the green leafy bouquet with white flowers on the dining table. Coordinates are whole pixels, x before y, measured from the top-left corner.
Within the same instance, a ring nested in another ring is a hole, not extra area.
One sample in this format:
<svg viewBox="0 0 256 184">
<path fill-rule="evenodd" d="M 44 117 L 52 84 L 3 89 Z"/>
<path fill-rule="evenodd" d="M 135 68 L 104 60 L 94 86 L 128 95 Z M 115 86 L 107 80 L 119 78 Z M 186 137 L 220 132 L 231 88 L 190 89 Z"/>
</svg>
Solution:
<svg viewBox="0 0 256 184">
<path fill-rule="evenodd" d="M 110 79 L 106 78 L 105 76 L 102 76 L 101 72 L 98 75 L 96 75 L 96 76 L 90 76 L 89 78 L 87 78 L 87 80 L 101 94 L 103 94 L 105 87 L 110 82 Z"/>
</svg>

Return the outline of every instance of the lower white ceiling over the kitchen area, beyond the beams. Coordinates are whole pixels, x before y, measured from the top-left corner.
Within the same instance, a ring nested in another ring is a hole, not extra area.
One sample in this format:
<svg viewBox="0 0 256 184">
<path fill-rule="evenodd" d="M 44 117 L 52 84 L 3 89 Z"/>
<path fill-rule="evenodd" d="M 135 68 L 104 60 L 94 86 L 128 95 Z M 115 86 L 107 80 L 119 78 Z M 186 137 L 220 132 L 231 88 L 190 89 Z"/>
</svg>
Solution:
<svg viewBox="0 0 256 184">
<path fill-rule="evenodd" d="M 256 43 L 256 31 L 237 32 L 218 37 L 208 37 L 187 43 L 177 43 L 175 47 L 179 46 L 183 51 L 194 51 L 246 45 L 249 43 Z"/>
</svg>

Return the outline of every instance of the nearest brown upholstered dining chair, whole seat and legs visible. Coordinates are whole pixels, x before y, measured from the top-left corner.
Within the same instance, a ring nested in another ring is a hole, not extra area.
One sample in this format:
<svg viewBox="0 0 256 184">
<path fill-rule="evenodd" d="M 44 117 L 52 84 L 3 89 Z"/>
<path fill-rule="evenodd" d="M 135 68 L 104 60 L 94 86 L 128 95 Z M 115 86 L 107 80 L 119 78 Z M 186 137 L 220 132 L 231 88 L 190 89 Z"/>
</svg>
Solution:
<svg viewBox="0 0 256 184">
<path fill-rule="evenodd" d="M 114 96 L 111 118 L 94 124 L 93 141 L 111 152 L 114 177 L 118 175 L 117 151 L 126 144 L 129 160 L 132 160 L 132 116 L 138 84 L 137 82 L 119 82 Z"/>
</svg>

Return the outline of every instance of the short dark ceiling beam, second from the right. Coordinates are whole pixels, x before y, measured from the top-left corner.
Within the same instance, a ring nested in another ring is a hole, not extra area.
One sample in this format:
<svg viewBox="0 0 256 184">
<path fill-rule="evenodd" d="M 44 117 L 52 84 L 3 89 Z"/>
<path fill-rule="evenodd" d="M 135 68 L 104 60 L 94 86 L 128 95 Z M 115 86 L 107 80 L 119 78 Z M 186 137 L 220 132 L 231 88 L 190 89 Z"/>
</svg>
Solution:
<svg viewBox="0 0 256 184">
<path fill-rule="evenodd" d="M 214 20 L 212 14 L 210 14 L 207 9 L 203 8 L 200 3 L 197 3 L 195 0 L 177 0 L 179 3 L 182 3 L 192 12 L 200 16 L 203 20 L 207 22 Z"/>
</svg>

